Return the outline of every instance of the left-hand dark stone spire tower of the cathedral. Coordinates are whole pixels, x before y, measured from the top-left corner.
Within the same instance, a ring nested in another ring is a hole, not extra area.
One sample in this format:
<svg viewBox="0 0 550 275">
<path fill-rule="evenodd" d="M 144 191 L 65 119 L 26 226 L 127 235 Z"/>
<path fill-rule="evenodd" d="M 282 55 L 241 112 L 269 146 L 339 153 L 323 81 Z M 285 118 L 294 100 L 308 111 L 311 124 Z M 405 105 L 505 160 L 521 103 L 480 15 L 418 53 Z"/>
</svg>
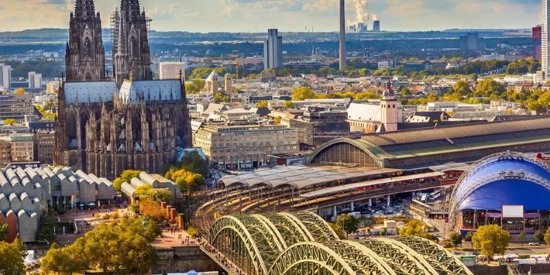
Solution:
<svg viewBox="0 0 550 275">
<path fill-rule="evenodd" d="M 69 26 L 65 53 L 67 81 L 104 80 L 105 50 L 94 0 L 76 0 Z"/>
</svg>

